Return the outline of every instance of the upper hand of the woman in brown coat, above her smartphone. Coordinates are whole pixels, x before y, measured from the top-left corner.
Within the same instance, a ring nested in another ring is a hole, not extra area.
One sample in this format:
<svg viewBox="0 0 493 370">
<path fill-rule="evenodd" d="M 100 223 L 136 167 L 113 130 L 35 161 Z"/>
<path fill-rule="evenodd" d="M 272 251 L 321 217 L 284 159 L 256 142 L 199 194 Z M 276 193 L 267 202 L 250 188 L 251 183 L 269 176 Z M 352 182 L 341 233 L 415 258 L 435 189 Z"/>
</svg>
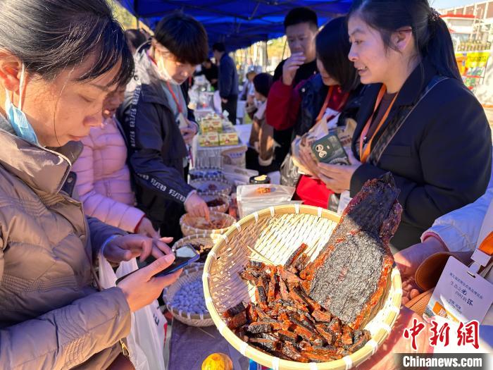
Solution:
<svg viewBox="0 0 493 370">
<path fill-rule="evenodd" d="M 172 254 L 171 248 L 166 244 L 172 240 L 173 238 L 151 239 L 138 234 L 122 235 L 108 242 L 103 255 L 109 262 L 116 264 L 139 256 L 140 261 L 150 255 L 158 259 L 165 254 Z"/>
</svg>

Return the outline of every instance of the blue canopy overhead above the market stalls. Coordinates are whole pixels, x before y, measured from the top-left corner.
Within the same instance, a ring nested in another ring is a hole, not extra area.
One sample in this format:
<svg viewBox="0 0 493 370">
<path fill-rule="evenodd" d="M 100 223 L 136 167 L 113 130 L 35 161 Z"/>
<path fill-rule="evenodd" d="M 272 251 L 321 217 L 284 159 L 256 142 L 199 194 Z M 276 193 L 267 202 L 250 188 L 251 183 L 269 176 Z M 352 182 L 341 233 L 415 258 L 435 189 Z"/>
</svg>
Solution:
<svg viewBox="0 0 493 370">
<path fill-rule="evenodd" d="M 318 24 L 347 13 L 352 0 L 118 0 L 130 13 L 154 29 L 173 11 L 183 11 L 206 27 L 209 42 L 224 42 L 229 50 L 284 35 L 287 12 L 308 6 Z"/>
</svg>

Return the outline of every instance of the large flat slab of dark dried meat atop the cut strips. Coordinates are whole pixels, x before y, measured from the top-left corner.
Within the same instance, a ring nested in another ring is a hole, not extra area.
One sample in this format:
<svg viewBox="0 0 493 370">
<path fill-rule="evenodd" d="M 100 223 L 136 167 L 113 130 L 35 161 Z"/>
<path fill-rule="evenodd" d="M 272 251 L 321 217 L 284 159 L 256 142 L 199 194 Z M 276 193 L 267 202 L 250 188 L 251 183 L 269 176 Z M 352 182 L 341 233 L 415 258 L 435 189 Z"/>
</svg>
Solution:
<svg viewBox="0 0 493 370">
<path fill-rule="evenodd" d="M 351 200 L 325 249 L 301 271 L 309 296 L 351 328 L 368 322 L 385 300 L 392 269 L 389 236 L 400 221 L 392 175 L 369 180 Z"/>
</svg>

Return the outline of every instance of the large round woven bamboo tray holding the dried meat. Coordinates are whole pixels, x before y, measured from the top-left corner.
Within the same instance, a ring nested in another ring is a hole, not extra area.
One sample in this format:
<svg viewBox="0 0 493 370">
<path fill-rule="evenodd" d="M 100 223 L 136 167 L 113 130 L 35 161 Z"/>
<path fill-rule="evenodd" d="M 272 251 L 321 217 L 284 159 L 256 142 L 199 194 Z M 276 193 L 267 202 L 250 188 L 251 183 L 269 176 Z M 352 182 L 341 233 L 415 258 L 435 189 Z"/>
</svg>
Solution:
<svg viewBox="0 0 493 370">
<path fill-rule="evenodd" d="M 387 339 L 401 306 L 401 276 L 397 268 L 392 270 L 392 282 L 382 309 L 365 327 L 371 339 L 361 350 L 332 362 L 303 364 L 270 356 L 239 339 L 223 320 L 222 313 L 226 309 L 239 302 L 255 300 L 254 287 L 238 275 L 250 259 L 284 264 L 304 242 L 313 261 L 338 221 L 337 214 L 313 206 L 276 206 L 242 218 L 221 235 L 204 266 L 204 296 L 218 331 L 241 354 L 274 370 L 345 370 L 368 359 Z"/>
</svg>

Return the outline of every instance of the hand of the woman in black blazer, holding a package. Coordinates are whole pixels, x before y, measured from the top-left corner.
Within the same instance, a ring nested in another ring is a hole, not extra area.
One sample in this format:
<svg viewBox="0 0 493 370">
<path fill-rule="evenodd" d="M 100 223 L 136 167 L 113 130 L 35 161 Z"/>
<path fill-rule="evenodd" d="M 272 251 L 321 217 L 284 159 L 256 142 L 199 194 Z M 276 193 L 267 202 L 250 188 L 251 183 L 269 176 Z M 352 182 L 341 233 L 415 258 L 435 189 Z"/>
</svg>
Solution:
<svg viewBox="0 0 493 370">
<path fill-rule="evenodd" d="M 344 190 L 349 190 L 351 187 L 351 178 L 353 173 L 361 166 L 351 150 L 347 150 L 349 156 L 349 166 L 339 164 L 318 164 L 320 180 L 322 180 L 328 189 L 336 194 L 341 194 Z"/>
</svg>

